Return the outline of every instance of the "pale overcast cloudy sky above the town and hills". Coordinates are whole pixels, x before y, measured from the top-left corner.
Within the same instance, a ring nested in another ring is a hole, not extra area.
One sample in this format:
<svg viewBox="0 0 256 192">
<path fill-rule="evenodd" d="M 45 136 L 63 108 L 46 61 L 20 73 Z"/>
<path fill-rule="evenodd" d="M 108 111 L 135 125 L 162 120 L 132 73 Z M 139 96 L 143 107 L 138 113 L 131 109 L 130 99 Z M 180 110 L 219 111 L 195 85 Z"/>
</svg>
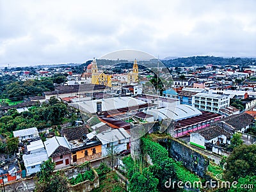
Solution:
<svg viewBox="0 0 256 192">
<path fill-rule="evenodd" d="M 0 67 L 83 63 L 122 49 L 256 57 L 255 7 L 255 0 L 0 0 Z"/>
</svg>

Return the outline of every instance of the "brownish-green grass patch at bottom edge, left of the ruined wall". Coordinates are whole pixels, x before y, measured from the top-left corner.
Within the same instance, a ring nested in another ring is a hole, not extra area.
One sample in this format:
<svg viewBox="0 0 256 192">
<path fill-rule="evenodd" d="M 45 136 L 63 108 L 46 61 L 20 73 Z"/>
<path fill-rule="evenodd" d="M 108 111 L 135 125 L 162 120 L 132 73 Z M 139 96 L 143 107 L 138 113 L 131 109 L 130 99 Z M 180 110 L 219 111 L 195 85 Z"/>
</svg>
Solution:
<svg viewBox="0 0 256 192">
<path fill-rule="evenodd" d="M 123 192 L 125 185 L 118 180 L 115 172 L 109 172 L 104 179 L 100 179 L 100 187 L 93 189 L 92 192 Z"/>
</svg>

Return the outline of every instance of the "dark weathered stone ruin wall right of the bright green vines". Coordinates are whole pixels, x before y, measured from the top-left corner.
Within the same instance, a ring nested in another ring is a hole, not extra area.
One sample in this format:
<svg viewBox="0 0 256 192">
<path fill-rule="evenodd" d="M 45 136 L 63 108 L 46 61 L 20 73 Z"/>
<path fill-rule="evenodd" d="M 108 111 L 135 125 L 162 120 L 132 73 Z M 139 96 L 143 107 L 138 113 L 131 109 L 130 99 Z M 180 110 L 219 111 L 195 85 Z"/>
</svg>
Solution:
<svg viewBox="0 0 256 192">
<path fill-rule="evenodd" d="M 188 170 L 196 173 L 200 177 L 209 177 L 206 174 L 207 166 L 209 166 L 209 158 L 204 156 L 204 154 L 200 154 L 200 152 L 197 152 L 175 138 L 163 138 L 158 141 L 160 145 L 167 148 L 170 157 L 176 161 L 180 161 Z"/>
</svg>

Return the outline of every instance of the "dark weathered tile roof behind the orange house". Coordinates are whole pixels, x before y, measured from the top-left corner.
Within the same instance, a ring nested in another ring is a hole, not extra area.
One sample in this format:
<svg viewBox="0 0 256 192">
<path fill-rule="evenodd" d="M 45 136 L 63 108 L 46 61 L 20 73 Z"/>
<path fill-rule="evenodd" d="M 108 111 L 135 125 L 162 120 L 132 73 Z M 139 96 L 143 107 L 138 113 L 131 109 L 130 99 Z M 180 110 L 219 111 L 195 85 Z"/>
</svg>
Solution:
<svg viewBox="0 0 256 192">
<path fill-rule="evenodd" d="M 65 136 L 68 141 L 79 140 L 83 134 L 88 134 L 88 129 L 85 125 L 77 127 L 68 127 L 61 129 L 61 136 Z"/>
</svg>

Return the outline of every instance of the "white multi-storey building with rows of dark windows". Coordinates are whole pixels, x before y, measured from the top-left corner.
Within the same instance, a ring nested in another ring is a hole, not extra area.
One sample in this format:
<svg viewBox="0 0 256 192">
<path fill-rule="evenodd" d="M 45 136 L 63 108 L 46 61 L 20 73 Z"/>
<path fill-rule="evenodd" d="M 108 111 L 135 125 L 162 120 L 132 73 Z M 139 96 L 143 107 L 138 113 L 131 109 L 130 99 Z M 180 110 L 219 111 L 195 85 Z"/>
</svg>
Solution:
<svg viewBox="0 0 256 192">
<path fill-rule="evenodd" d="M 220 109 L 227 108 L 230 103 L 228 95 L 209 93 L 196 93 L 192 96 L 192 106 L 203 111 L 219 113 Z"/>
</svg>

